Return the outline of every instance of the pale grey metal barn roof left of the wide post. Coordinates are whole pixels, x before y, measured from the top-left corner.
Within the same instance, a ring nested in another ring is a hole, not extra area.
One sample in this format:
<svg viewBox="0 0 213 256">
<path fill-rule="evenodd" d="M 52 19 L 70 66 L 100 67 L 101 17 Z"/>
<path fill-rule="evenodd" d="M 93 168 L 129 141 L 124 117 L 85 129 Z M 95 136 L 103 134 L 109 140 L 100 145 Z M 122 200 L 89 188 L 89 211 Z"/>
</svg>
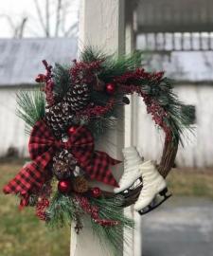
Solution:
<svg viewBox="0 0 213 256">
<path fill-rule="evenodd" d="M 69 64 L 76 55 L 77 39 L 0 39 L 0 86 L 34 83 L 42 60 Z"/>
</svg>

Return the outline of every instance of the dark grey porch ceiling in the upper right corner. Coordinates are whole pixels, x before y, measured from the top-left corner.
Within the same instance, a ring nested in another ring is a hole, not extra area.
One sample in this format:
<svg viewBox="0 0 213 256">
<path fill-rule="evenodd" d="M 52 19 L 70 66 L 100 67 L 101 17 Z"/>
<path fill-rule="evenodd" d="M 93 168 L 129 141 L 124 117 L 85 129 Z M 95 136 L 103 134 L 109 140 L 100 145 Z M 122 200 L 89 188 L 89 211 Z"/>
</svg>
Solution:
<svg viewBox="0 0 213 256">
<path fill-rule="evenodd" d="M 213 0 L 140 0 L 138 33 L 213 31 Z"/>
</svg>

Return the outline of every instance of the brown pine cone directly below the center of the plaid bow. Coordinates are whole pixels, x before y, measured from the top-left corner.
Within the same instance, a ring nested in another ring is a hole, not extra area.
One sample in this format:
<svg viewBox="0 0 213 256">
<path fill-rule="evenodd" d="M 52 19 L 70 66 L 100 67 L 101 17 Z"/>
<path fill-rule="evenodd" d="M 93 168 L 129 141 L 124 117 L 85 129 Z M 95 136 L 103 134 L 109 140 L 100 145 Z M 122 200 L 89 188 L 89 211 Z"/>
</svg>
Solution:
<svg viewBox="0 0 213 256">
<path fill-rule="evenodd" d="M 62 150 L 60 153 L 53 157 L 53 174 L 61 179 L 67 179 L 73 175 L 76 168 L 77 161 L 73 155 L 66 150 Z"/>
</svg>

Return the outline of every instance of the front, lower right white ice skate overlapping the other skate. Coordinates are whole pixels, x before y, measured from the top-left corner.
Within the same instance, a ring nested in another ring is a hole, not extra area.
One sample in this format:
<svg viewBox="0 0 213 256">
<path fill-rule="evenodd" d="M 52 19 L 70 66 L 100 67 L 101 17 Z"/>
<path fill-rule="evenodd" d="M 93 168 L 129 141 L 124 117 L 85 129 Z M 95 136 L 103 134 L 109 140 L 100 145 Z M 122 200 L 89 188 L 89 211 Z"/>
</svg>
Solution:
<svg viewBox="0 0 213 256">
<path fill-rule="evenodd" d="M 133 209 L 145 214 L 160 206 L 171 194 L 167 195 L 167 183 L 151 161 L 147 161 L 139 166 L 143 179 L 143 188 L 135 202 Z M 155 198 L 160 194 L 164 199 L 156 203 Z"/>
</svg>

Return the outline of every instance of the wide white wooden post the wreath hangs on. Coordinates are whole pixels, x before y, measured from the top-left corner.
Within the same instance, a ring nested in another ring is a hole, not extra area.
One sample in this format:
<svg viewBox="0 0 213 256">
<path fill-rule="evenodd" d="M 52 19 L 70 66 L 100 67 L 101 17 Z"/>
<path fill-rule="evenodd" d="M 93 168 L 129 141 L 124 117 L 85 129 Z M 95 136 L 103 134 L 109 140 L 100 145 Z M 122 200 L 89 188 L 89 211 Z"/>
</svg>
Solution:
<svg viewBox="0 0 213 256">
<path fill-rule="evenodd" d="M 125 0 L 81 0 L 79 48 L 97 46 L 106 53 L 123 54 L 125 52 L 124 10 Z M 104 140 L 99 147 L 113 157 L 121 159 L 121 149 L 124 145 L 123 121 L 119 122 L 116 131 L 108 134 Z M 119 178 L 121 173 L 122 169 L 118 172 L 116 170 L 115 177 Z M 102 185 L 101 188 L 106 189 Z M 70 246 L 70 256 L 111 255 L 110 248 L 107 251 L 100 246 L 98 238 L 94 236 L 89 222 L 86 221 L 79 235 L 75 233 L 74 227 L 71 228 Z M 122 252 L 119 255 L 122 255 Z"/>
</svg>

